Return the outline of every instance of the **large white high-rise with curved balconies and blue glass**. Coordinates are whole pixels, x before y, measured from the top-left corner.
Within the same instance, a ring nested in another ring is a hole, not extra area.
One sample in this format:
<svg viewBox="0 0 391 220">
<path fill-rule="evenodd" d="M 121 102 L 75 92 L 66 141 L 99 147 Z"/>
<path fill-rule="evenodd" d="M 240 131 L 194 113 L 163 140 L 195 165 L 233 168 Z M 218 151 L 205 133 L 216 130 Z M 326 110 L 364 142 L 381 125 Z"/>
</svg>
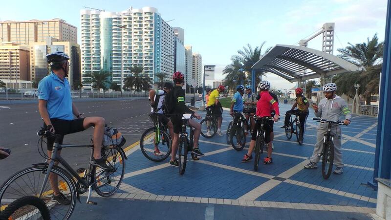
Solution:
<svg viewBox="0 0 391 220">
<path fill-rule="evenodd" d="M 124 79 L 131 75 L 132 66 L 143 66 L 143 73 L 153 81 L 157 81 L 158 72 L 172 77 L 174 30 L 156 8 L 122 12 L 81 10 L 80 14 L 83 80 L 87 73 L 102 69 L 111 72 L 111 81 L 121 85 L 121 74 Z"/>
</svg>

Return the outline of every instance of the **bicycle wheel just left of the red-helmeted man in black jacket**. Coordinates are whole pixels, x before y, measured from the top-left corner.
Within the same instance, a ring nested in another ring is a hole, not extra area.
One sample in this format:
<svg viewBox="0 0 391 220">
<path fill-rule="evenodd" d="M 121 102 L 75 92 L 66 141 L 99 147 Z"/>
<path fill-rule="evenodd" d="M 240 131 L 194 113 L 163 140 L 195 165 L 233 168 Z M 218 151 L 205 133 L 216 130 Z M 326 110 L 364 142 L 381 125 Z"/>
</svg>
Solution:
<svg viewBox="0 0 391 220">
<path fill-rule="evenodd" d="M 167 159 L 167 157 L 171 154 L 171 145 L 172 145 L 172 141 L 171 141 L 171 137 L 170 135 L 163 131 L 163 130 L 160 130 L 160 133 L 161 133 L 161 136 L 162 138 L 165 139 L 165 147 L 164 147 L 164 150 L 166 150 L 166 154 L 162 155 L 161 157 L 153 157 L 152 155 L 148 154 L 149 152 L 151 152 L 152 150 L 148 147 L 146 147 L 146 143 L 144 141 L 144 139 L 146 137 L 148 137 L 149 135 L 151 135 L 152 133 L 154 133 L 156 131 L 156 127 L 152 127 L 152 128 L 149 128 L 147 129 L 142 135 L 141 135 L 141 138 L 140 138 L 140 150 L 141 152 L 144 154 L 145 157 L 147 157 L 149 160 L 152 160 L 154 162 L 161 162 L 165 159 Z M 152 134 L 153 135 L 153 134 Z M 153 143 L 152 143 L 153 144 Z M 162 143 L 163 144 L 163 143 Z M 154 144 L 153 144 L 153 147 L 154 147 Z M 152 152 L 153 153 L 153 152 Z"/>
</svg>

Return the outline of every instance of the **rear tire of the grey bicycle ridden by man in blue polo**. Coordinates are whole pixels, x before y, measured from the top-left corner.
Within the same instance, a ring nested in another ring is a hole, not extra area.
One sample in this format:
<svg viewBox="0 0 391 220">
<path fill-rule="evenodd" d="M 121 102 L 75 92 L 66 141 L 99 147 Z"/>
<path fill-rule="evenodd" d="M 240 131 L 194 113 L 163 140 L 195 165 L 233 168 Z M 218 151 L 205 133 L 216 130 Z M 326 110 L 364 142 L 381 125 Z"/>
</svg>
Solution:
<svg viewBox="0 0 391 220">
<path fill-rule="evenodd" d="M 102 149 L 102 157 L 106 157 L 106 159 L 109 160 L 109 166 L 111 165 L 114 167 L 115 172 L 113 173 L 113 176 L 108 176 L 106 179 L 102 179 L 102 181 L 99 181 L 94 184 L 95 192 L 101 196 L 101 197 L 109 197 L 113 195 L 121 186 L 122 180 L 125 175 L 125 154 L 118 149 L 117 147 L 110 148 L 110 149 Z M 107 162 L 106 162 L 107 163 Z M 102 173 L 102 175 L 107 175 L 107 172 L 99 171 L 102 170 L 101 168 L 98 168 L 94 166 L 92 168 L 92 174 L 93 174 L 93 181 L 97 180 L 97 174 Z M 98 171 L 98 172 L 97 172 Z M 120 175 L 119 178 L 116 179 L 116 175 Z M 99 178 L 99 176 L 98 176 Z M 112 180 L 116 180 L 117 183 L 115 187 L 112 187 L 112 189 L 107 190 L 107 192 L 104 192 L 103 190 L 106 189 L 107 183 L 111 183 Z M 103 182 L 103 180 L 107 180 L 107 182 Z M 103 183 L 103 184 L 102 184 Z M 105 188 L 104 188 L 105 187 Z"/>
</svg>

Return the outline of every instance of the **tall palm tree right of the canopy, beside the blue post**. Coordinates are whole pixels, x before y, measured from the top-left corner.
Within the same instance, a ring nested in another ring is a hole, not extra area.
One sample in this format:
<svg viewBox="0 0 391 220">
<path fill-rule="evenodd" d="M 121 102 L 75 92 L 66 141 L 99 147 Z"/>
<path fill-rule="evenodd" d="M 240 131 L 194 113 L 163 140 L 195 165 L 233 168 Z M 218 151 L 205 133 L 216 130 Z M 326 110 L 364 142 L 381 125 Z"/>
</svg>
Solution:
<svg viewBox="0 0 391 220">
<path fill-rule="evenodd" d="M 366 98 L 367 105 L 370 105 L 370 94 L 379 91 L 379 78 L 381 64 L 383 62 L 383 42 L 378 42 L 377 34 L 371 40 L 367 38 L 367 42 L 359 44 L 350 44 L 345 48 L 338 49 L 339 55 L 348 62 L 359 66 L 361 74 L 359 74 L 359 83 L 361 85 L 359 94 Z M 349 87 L 353 88 L 352 81 Z"/>
</svg>

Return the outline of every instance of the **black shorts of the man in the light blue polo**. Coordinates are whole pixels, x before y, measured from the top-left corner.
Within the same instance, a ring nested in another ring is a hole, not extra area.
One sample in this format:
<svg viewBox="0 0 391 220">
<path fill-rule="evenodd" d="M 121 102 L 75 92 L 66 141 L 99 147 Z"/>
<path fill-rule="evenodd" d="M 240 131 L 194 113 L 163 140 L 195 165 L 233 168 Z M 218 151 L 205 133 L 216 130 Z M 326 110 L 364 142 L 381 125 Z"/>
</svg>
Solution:
<svg viewBox="0 0 391 220">
<path fill-rule="evenodd" d="M 52 123 L 52 126 L 54 128 L 54 132 L 56 134 L 61 134 L 62 137 L 60 138 L 60 143 L 63 144 L 64 135 L 70 134 L 70 133 L 76 133 L 76 132 L 82 132 L 84 131 L 84 118 L 78 118 L 74 120 L 63 120 L 58 118 L 50 118 L 50 122 Z M 43 128 L 46 129 L 47 126 L 43 123 Z M 53 150 L 53 144 L 54 144 L 54 138 L 48 137 L 47 138 L 47 150 L 51 151 Z"/>
</svg>

